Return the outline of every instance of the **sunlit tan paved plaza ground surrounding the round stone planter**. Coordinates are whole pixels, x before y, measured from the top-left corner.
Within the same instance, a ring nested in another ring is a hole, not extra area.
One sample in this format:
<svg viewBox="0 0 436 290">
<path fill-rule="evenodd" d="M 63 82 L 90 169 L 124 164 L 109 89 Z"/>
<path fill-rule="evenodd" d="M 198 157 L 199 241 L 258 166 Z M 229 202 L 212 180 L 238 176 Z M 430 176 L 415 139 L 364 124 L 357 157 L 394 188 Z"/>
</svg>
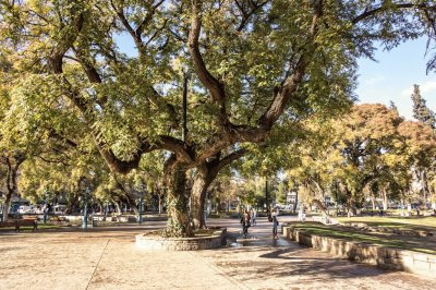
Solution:
<svg viewBox="0 0 436 290">
<path fill-rule="evenodd" d="M 282 220 L 281 220 L 282 221 Z M 240 240 L 234 219 L 229 246 L 198 252 L 136 249 L 134 235 L 161 227 L 0 233 L 0 290 L 5 289 L 434 289 L 435 279 L 329 256 L 271 239 L 261 219 Z M 253 238 L 253 239 L 252 239 Z"/>
</svg>

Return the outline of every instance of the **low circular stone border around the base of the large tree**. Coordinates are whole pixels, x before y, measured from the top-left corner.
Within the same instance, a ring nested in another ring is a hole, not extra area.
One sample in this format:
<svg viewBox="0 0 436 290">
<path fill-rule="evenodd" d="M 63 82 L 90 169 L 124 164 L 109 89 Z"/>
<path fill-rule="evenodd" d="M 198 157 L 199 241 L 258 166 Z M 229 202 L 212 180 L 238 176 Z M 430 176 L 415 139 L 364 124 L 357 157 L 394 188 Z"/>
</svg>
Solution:
<svg viewBox="0 0 436 290">
<path fill-rule="evenodd" d="M 196 251 L 216 249 L 227 244 L 227 228 L 218 228 L 211 235 L 193 238 L 164 238 L 147 233 L 135 237 L 136 246 L 143 250 Z"/>
</svg>

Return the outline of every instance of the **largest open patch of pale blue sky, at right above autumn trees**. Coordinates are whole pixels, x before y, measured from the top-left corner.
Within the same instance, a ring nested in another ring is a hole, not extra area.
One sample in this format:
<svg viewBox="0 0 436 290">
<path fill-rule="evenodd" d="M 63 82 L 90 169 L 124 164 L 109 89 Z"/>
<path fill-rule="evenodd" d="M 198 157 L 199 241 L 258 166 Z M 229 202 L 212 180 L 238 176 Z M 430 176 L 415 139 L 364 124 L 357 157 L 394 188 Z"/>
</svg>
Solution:
<svg viewBox="0 0 436 290">
<path fill-rule="evenodd" d="M 436 110 L 436 75 L 426 75 L 424 38 L 407 41 L 390 51 L 377 51 L 378 62 L 368 59 L 359 61 L 359 102 L 385 104 L 392 100 L 401 116 L 412 117 L 413 85 L 420 85 L 421 96 L 427 106 Z"/>
</svg>

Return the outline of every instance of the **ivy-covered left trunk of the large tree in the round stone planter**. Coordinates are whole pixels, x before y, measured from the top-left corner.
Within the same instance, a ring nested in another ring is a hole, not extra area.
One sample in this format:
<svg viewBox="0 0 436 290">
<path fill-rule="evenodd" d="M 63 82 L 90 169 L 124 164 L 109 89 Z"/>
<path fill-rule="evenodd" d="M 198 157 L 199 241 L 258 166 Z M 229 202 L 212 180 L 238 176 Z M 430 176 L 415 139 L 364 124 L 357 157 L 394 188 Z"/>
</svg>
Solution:
<svg viewBox="0 0 436 290">
<path fill-rule="evenodd" d="M 193 237 L 190 225 L 189 201 L 186 191 L 186 167 L 174 156 L 165 165 L 165 182 L 167 186 L 168 221 L 165 234 L 167 237 Z"/>
</svg>

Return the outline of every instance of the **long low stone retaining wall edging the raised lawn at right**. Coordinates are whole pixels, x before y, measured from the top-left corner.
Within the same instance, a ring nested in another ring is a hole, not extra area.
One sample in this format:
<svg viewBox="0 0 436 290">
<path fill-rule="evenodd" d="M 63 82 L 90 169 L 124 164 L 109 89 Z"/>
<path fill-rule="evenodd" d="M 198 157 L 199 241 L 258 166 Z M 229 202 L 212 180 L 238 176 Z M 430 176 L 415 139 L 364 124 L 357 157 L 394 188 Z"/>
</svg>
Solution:
<svg viewBox="0 0 436 290">
<path fill-rule="evenodd" d="M 436 255 L 315 235 L 292 227 L 283 227 L 282 230 L 283 235 L 290 240 L 337 256 L 387 269 L 436 277 Z"/>
</svg>

